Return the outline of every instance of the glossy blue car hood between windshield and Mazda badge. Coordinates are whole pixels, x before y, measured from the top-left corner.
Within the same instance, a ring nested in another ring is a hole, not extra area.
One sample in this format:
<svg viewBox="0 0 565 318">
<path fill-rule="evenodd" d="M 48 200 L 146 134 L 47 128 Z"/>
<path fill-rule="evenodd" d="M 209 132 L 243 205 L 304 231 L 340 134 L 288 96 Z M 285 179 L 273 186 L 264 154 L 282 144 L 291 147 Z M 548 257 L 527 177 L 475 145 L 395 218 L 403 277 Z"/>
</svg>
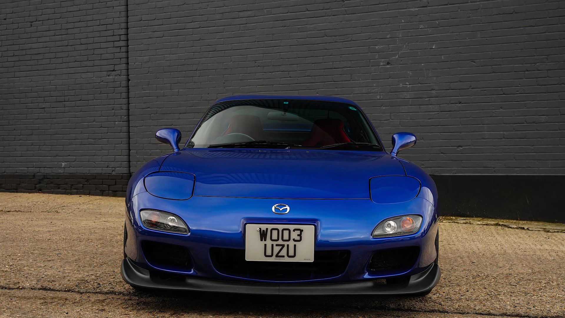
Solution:
<svg viewBox="0 0 565 318">
<path fill-rule="evenodd" d="M 195 175 L 198 196 L 368 199 L 369 179 L 405 175 L 385 152 L 311 149 L 185 149 L 160 171 Z"/>
</svg>

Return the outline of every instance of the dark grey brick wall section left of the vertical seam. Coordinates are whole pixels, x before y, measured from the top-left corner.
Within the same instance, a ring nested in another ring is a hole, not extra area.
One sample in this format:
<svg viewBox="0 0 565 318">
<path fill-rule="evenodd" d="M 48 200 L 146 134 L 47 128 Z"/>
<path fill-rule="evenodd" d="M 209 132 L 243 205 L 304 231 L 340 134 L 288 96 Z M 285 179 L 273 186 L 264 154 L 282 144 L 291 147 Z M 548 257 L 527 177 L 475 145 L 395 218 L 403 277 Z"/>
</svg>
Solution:
<svg viewBox="0 0 565 318">
<path fill-rule="evenodd" d="M 0 174 L 128 173 L 126 40 L 125 0 L 2 1 Z"/>
</svg>

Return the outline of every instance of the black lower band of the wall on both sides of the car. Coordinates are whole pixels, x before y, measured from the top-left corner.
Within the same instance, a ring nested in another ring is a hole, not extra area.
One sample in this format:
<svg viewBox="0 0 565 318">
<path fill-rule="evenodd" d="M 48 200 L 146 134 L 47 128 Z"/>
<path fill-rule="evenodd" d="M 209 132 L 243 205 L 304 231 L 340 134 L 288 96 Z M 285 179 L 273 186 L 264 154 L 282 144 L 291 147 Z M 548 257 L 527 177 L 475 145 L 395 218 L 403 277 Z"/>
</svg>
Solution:
<svg viewBox="0 0 565 318">
<path fill-rule="evenodd" d="M 125 196 L 129 174 L 0 174 L 0 191 Z M 565 223 L 565 175 L 432 175 L 440 215 Z"/>
</svg>

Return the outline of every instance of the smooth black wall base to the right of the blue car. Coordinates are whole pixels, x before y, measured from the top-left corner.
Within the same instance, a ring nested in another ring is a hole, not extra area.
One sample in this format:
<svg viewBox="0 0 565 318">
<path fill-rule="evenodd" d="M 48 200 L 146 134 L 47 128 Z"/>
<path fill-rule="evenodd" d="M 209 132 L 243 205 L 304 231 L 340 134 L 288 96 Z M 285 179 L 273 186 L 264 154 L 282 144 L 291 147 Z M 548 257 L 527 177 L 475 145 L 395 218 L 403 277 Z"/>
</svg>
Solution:
<svg viewBox="0 0 565 318">
<path fill-rule="evenodd" d="M 565 175 L 432 175 L 440 215 L 565 223 Z"/>
</svg>

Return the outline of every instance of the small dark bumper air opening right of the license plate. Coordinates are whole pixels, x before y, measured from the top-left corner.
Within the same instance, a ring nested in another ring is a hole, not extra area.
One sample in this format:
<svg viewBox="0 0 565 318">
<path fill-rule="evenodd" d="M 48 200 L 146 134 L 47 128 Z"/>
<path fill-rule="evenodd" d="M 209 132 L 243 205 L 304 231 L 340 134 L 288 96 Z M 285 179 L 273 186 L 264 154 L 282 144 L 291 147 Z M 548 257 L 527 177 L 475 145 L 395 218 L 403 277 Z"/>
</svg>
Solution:
<svg viewBox="0 0 565 318">
<path fill-rule="evenodd" d="M 420 247 L 418 246 L 376 251 L 371 256 L 368 269 L 373 272 L 408 270 L 414 266 L 419 254 Z"/>
</svg>

